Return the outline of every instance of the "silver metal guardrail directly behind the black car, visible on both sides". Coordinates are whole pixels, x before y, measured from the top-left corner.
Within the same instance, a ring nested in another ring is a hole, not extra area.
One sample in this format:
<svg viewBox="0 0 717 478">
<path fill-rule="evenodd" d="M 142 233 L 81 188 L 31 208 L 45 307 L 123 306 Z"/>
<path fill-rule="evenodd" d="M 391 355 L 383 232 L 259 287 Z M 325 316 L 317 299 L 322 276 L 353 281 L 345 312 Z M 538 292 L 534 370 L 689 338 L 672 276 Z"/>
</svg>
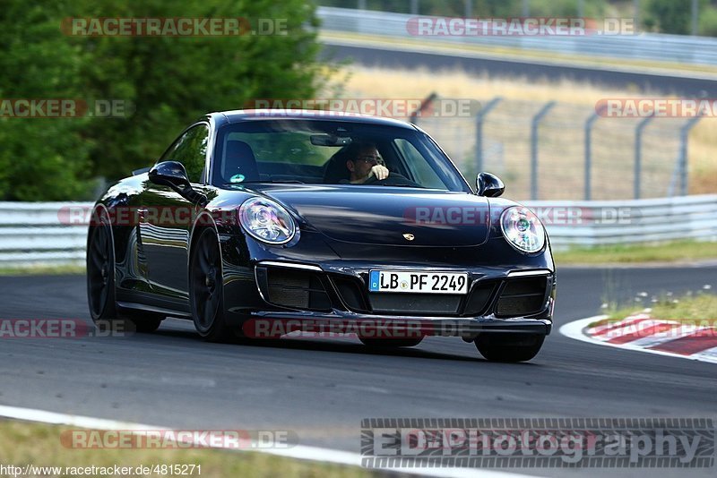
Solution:
<svg viewBox="0 0 717 478">
<path fill-rule="evenodd" d="M 680 239 L 717 241 L 717 194 L 635 201 L 530 201 L 556 250 Z M 0 267 L 82 263 L 87 225 L 61 211 L 84 202 L 0 202 Z"/>
</svg>

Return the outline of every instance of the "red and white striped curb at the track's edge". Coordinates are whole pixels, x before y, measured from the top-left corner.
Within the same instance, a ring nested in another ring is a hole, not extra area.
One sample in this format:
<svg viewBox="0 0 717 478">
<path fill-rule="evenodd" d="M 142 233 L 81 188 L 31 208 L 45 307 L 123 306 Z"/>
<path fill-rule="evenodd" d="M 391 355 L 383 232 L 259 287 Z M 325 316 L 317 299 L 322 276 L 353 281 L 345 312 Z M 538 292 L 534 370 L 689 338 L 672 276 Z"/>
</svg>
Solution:
<svg viewBox="0 0 717 478">
<path fill-rule="evenodd" d="M 575 320 L 561 327 L 560 333 L 599 346 L 717 363 L 717 328 L 658 320 L 646 313 L 590 327 L 592 322 L 605 318 L 606 315 L 598 315 Z"/>
</svg>

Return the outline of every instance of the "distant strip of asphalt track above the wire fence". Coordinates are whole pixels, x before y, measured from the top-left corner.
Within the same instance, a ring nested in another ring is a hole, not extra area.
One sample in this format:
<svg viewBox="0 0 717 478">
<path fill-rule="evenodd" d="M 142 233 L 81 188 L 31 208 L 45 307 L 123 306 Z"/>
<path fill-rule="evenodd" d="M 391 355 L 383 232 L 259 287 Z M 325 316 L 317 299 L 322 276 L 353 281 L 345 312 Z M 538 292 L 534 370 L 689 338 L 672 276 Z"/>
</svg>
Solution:
<svg viewBox="0 0 717 478">
<path fill-rule="evenodd" d="M 427 68 L 431 71 L 462 70 L 470 74 L 497 78 L 525 77 L 533 81 L 561 79 L 589 82 L 644 94 L 674 94 L 687 98 L 717 98 L 717 81 L 686 76 L 618 71 L 605 67 L 582 67 L 570 64 L 543 64 L 540 61 L 499 60 L 479 55 L 459 56 L 449 53 L 401 51 L 391 45 L 384 48 L 332 45 L 324 47 L 324 57 L 334 61 L 386 68 Z M 699 76 L 695 73 L 695 76 Z M 439 92 L 440 93 L 440 92 Z M 479 96 L 479 93 L 477 93 Z"/>
</svg>

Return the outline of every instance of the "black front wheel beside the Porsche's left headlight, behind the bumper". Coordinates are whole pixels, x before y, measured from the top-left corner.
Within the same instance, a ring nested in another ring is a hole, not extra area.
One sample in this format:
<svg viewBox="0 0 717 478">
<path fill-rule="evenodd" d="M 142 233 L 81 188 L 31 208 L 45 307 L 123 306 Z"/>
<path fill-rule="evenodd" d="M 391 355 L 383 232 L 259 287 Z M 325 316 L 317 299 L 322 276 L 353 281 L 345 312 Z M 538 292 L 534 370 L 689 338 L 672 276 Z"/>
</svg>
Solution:
<svg viewBox="0 0 717 478">
<path fill-rule="evenodd" d="M 208 342 L 224 342 L 233 331 L 224 320 L 221 252 L 217 233 L 204 229 L 189 260 L 189 306 L 197 333 Z"/>
</svg>

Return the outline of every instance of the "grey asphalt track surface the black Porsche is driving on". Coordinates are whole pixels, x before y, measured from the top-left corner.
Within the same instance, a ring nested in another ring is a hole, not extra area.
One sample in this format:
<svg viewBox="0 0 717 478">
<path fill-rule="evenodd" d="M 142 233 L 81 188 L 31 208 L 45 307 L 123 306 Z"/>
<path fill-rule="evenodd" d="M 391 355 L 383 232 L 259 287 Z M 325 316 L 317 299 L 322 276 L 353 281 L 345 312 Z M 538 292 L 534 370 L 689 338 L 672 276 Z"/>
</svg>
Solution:
<svg viewBox="0 0 717 478">
<path fill-rule="evenodd" d="M 173 319 L 130 337 L 2 338 L 0 405 L 177 429 L 290 430 L 303 445 L 352 452 L 366 417 L 713 418 L 714 364 L 593 346 L 557 329 L 600 312 L 606 297 L 679 294 L 717 286 L 715 277 L 717 265 L 559 269 L 556 327 L 530 363 L 488 363 L 455 337 L 391 353 L 350 338 L 208 344 Z M 90 321 L 82 276 L 0 277 L 0 300 L 4 319 Z"/>
</svg>

